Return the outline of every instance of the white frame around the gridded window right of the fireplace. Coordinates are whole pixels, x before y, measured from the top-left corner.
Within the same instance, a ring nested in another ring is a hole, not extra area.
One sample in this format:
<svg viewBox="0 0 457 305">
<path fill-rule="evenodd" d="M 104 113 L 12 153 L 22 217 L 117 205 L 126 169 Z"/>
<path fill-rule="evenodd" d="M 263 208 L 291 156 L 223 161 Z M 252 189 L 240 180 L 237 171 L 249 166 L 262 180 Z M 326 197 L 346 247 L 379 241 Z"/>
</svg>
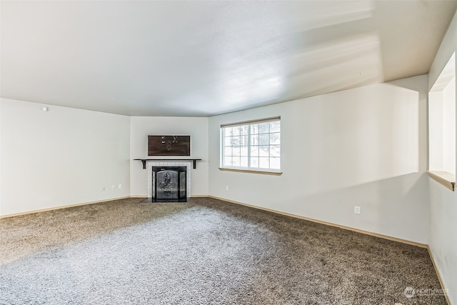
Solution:
<svg viewBox="0 0 457 305">
<path fill-rule="evenodd" d="M 219 170 L 221 171 L 238 171 L 238 172 L 246 172 L 246 173 L 251 173 L 251 174 L 269 174 L 269 175 L 276 175 L 280 176 L 282 174 L 281 171 L 281 154 L 279 156 L 279 169 L 266 169 L 262 167 L 248 167 L 248 166 L 224 166 L 224 149 L 225 149 L 225 132 L 224 129 L 229 128 L 229 127 L 236 127 L 236 126 L 249 126 L 248 129 L 250 130 L 250 125 L 252 124 L 261 124 L 261 123 L 267 123 L 271 121 L 279 121 L 279 124 L 281 126 L 281 116 L 271 116 L 265 119 L 253 119 L 249 121 L 238 121 L 236 123 L 230 123 L 230 124 L 221 124 L 220 126 L 220 158 L 219 158 Z M 271 134 L 271 132 L 268 131 L 268 135 Z M 249 131 L 248 133 L 248 150 L 251 149 L 251 144 L 250 144 L 250 135 L 251 132 Z M 279 136 L 281 137 L 281 129 L 279 130 Z M 272 145 L 272 144 L 269 144 Z M 280 151 L 281 151 L 281 142 L 279 144 L 280 146 Z M 232 146 L 233 147 L 233 146 Z M 248 159 L 250 156 L 248 155 Z"/>
</svg>

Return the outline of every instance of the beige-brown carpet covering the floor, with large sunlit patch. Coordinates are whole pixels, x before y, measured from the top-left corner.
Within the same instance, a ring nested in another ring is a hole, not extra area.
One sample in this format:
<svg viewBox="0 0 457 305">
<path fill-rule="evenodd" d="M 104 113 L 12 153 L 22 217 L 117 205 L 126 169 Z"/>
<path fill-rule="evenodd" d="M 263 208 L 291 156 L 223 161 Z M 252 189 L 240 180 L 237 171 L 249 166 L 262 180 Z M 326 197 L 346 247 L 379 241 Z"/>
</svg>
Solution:
<svg viewBox="0 0 457 305">
<path fill-rule="evenodd" d="M 216 199 L 0 219 L 0 304 L 446 304 L 439 289 L 426 249 Z"/>
</svg>

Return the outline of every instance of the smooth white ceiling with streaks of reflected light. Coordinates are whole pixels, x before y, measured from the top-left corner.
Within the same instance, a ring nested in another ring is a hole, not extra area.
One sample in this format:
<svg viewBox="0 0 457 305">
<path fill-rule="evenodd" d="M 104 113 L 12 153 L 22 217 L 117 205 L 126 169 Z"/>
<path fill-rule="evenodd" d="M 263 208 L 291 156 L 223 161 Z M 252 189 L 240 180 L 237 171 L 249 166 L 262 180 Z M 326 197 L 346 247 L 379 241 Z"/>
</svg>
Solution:
<svg viewBox="0 0 457 305">
<path fill-rule="evenodd" d="M 1 97 L 212 116 L 428 73 L 457 1 L 1 1 Z"/>
</svg>

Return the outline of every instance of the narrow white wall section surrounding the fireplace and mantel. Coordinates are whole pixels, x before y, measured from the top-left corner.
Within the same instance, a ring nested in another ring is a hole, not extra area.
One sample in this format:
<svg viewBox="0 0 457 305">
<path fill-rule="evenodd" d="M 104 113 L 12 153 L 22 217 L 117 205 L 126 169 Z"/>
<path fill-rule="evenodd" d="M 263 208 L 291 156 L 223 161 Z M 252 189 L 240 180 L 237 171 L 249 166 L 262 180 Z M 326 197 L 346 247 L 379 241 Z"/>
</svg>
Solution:
<svg viewBox="0 0 457 305">
<path fill-rule="evenodd" d="M 131 196 L 148 196 L 148 176 L 141 161 L 148 158 L 148 135 L 190 135 L 190 158 L 197 161 L 191 170 L 191 196 L 208 195 L 208 118 L 131 117 Z M 185 158 L 185 157 L 181 157 Z"/>
</svg>

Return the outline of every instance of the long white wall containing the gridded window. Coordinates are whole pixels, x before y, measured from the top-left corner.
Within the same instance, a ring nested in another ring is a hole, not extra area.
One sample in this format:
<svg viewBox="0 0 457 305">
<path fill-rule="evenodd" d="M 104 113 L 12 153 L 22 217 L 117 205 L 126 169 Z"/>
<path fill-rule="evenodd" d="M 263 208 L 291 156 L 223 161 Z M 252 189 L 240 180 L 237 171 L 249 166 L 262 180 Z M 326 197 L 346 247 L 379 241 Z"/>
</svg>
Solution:
<svg viewBox="0 0 457 305">
<path fill-rule="evenodd" d="M 426 86 L 418 76 L 211 117 L 209 194 L 426 244 Z M 271 116 L 283 175 L 219 171 L 220 125 Z"/>
</svg>

